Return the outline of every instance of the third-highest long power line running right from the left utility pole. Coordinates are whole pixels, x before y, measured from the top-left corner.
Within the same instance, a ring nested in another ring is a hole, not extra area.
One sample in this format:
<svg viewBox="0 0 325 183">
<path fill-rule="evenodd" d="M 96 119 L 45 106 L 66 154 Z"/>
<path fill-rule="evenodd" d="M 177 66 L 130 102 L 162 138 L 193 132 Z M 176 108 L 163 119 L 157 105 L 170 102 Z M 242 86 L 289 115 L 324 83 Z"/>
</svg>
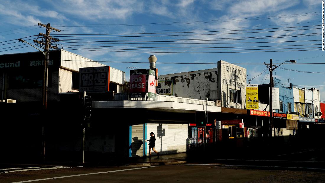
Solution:
<svg viewBox="0 0 325 183">
<path fill-rule="evenodd" d="M 231 31 L 255 31 L 255 30 L 269 30 L 269 29 L 291 29 L 301 27 L 317 27 L 321 25 L 306 25 L 295 27 L 277 27 L 277 28 L 264 28 L 264 29 L 242 29 L 242 30 L 226 30 L 226 31 L 192 31 L 192 32 L 165 32 L 165 33 L 97 33 L 97 34 L 53 34 L 53 35 L 128 35 L 128 34 L 176 34 L 176 33 L 214 33 L 214 32 L 231 32 Z"/>
</svg>

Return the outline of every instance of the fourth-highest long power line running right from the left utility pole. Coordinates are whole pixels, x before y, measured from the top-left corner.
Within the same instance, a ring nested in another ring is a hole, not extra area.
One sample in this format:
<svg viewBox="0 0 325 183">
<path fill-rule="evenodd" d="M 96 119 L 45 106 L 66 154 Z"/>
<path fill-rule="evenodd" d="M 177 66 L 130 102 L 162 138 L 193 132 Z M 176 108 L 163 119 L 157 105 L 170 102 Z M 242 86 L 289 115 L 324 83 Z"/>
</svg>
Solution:
<svg viewBox="0 0 325 183">
<path fill-rule="evenodd" d="M 314 30 L 320 28 L 309 28 L 309 29 L 292 29 L 292 30 L 278 30 L 278 31 L 255 31 L 255 32 L 244 32 L 244 33 L 213 33 L 213 34 L 179 34 L 179 35 L 138 35 L 138 36 L 60 36 L 56 37 L 167 37 L 167 36 L 194 36 L 194 35 L 223 35 L 223 34 L 246 34 L 246 33 L 271 33 L 271 32 L 285 32 L 285 31 L 304 31 L 304 30 Z M 153 34 L 153 33 L 152 33 Z M 71 35 L 71 34 L 69 34 Z M 88 34 L 88 35 L 106 35 L 106 34 Z M 110 34 L 109 34 L 110 35 Z"/>
</svg>

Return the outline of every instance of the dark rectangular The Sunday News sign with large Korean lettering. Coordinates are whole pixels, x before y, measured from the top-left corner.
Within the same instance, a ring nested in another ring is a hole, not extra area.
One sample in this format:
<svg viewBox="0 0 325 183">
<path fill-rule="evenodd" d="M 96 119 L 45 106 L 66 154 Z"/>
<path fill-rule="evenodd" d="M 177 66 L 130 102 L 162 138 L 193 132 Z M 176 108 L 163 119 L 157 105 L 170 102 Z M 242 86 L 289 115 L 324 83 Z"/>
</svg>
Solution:
<svg viewBox="0 0 325 183">
<path fill-rule="evenodd" d="M 110 66 L 80 68 L 79 73 L 79 91 L 109 91 Z"/>
</svg>

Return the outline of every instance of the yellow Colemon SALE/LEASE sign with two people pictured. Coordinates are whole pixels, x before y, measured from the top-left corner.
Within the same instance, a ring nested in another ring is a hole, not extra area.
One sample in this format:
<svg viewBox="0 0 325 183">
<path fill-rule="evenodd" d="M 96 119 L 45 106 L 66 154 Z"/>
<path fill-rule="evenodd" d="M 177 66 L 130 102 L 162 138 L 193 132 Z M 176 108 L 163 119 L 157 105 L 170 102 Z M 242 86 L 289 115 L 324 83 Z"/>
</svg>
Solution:
<svg viewBox="0 0 325 183">
<path fill-rule="evenodd" d="M 258 109 L 258 85 L 246 85 L 246 109 Z"/>
</svg>

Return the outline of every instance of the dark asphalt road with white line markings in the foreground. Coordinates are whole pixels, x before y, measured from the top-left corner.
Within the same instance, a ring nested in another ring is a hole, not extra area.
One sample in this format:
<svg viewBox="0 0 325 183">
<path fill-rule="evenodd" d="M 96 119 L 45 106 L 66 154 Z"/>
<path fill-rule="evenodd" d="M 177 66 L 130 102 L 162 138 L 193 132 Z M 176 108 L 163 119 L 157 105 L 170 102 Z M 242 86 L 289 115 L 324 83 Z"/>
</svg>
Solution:
<svg viewBox="0 0 325 183">
<path fill-rule="evenodd" d="M 38 180 L 42 179 L 42 180 Z M 74 167 L 1 173 L 0 182 L 325 182 L 325 172 L 258 170 L 218 164 Z"/>
</svg>

